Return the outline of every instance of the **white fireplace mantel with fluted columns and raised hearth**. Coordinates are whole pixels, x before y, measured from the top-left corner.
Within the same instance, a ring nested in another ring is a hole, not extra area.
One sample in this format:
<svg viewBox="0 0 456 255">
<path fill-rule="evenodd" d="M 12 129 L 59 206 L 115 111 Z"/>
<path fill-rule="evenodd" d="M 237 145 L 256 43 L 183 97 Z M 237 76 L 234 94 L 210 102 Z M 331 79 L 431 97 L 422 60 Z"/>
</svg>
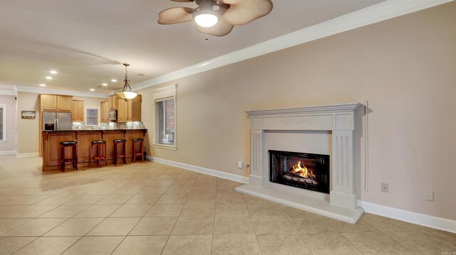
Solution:
<svg viewBox="0 0 456 255">
<path fill-rule="evenodd" d="M 251 172 L 249 184 L 236 190 L 326 217 L 356 223 L 364 212 L 363 208 L 357 205 L 353 164 L 355 115 L 361 105 L 351 103 L 248 111 Z M 268 131 L 296 132 L 297 136 L 303 131 L 330 132 L 332 149 L 329 196 L 269 182 L 268 151 L 264 146 L 265 132 Z"/>
</svg>

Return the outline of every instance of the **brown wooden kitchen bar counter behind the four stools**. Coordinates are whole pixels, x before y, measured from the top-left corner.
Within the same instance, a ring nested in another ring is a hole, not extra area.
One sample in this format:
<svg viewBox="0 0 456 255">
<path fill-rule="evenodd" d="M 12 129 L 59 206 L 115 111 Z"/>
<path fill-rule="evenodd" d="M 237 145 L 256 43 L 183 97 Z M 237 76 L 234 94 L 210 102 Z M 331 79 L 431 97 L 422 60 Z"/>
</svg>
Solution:
<svg viewBox="0 0 456 255">
<path fill-rule="evenodd" d="M 60 169 L 60 142 L 78 142 L 78 167 L 88 166 L 90 161 L 90 142 L 95 140 L 106 141 L 106 156 L 108 163 L 114 158 L 115 139 L 127 140 L 127 162 L 133 159 L 132 139 L 144 138 L 147 129 L 96 129 L 96 130 L 56 130 L 42 131 L 43 137 L 43 171 Z M 120 149 L 120 146 L 119 146 Z M 71 158 L 71 148 L 66 149 L 65 158 Z M 120 161 L 120 165 L 122 165 Z M 93 164 L 96 166 L 96 163 Z M 70 169 L 71 166 L 67 166 Z"/>
</svg>

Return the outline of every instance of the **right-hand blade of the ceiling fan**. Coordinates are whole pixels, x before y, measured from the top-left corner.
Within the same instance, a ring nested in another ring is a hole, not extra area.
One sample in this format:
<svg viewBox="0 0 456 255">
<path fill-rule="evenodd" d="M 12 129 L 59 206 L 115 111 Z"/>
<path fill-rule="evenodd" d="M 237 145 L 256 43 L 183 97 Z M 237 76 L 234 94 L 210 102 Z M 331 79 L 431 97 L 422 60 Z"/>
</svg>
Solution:
<svg viewBox="0 0 456 255">
<path fill-rule="evenodd" d="M 232 25 L 245 25 L 266 16 L 271 11 L 271 0 L 242 0 L 237 4 L 230 4 L 229 9 L 223 13 L 222 19 Z"/>
</svg>

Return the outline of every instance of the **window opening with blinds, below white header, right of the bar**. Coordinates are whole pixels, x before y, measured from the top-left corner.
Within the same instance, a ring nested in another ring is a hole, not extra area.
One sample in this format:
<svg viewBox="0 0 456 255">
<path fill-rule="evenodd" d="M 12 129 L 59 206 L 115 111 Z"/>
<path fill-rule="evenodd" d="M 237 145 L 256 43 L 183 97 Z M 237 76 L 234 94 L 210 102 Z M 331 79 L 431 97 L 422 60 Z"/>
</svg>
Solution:
<svg viewBox="0 0 456 255">
<path fill-rule="evenodd" d="M 157 118 L 157 137 L 159 144 L 174 145 L 175 135 L 175 102 L 168 97 L 155 101 L 155 116 Z"/>
</svg>

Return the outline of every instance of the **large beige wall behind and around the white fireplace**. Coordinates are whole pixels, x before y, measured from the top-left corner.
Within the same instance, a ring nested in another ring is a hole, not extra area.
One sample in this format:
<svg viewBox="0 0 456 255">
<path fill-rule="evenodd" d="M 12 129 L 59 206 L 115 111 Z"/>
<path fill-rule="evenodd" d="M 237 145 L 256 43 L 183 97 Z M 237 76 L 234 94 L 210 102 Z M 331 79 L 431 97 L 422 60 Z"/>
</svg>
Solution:
<svg viewBox="0 0 456 255">
<path fill-rule="evenodd" d="M 249 162 L 247 109 L 368 99 L 368 191 L 363 109 L 356 137 L 361 200 L 456 219 L 455 28 L 452 2 L 169 82 L 179 83 L 178 148 L 152 155 L 247 176 L 236 168 Z M 151 89 L 140 93 L 152 131 Z"/>
</svg>

